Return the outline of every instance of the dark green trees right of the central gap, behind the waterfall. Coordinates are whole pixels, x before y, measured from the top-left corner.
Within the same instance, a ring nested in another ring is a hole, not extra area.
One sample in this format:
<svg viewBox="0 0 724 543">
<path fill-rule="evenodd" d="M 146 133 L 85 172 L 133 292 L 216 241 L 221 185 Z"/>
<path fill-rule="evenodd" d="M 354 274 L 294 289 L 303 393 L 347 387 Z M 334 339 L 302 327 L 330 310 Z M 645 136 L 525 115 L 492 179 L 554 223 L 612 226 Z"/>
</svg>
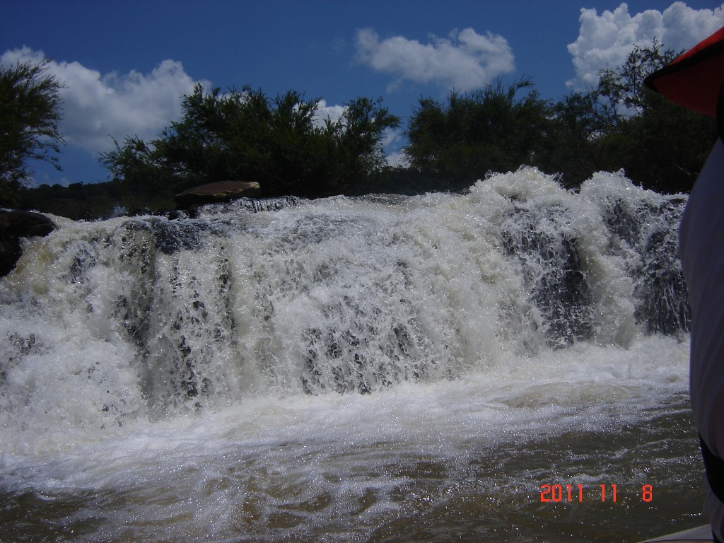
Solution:
<svg viewBox="0 0 724 543">
<path fill-rule="evenodd" d="M 666 193 L 691 189 L 716 139 L 715 122 L 667 101 L 644 79 L 677 54 L 636 46 L 615 70 L 603 70 L 599 85 L 557 103 L 542 101 L 521 80 L 446 104 L 423 98 L 408 125 L 405 148 L 417 172 L 441 183 L 468 185 L 489 171 L 523 164 L 561 174 L 575 187 L 599 170 L 623 169 L 645 188 Z"/>
</svg>

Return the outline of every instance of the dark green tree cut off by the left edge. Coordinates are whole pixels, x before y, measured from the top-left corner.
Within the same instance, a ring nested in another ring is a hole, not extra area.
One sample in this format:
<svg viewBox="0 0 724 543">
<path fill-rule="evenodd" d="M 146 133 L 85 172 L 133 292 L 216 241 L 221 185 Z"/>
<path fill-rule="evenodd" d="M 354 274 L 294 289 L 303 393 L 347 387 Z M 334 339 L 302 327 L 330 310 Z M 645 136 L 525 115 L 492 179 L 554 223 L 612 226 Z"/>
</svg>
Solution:
<svg viewBox="0 0 724 543">
<path fill-rule="evenodd" d="M 58 132 L 63 85 L 47 73 L 48 64 L 0 66 L 0 203 L 16 202 L 17 190 L 33 174 L 29 160 L 60 169 L 54 153 L 63 142 Z"/>
</svg>

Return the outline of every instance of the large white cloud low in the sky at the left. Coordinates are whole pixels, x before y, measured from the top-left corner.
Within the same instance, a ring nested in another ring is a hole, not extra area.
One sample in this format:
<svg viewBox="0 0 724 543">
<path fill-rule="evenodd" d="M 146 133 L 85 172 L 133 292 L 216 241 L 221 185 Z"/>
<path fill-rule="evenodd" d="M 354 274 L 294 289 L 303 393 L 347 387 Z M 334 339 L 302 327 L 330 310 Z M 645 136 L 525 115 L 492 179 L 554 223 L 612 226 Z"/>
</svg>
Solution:
<svg viewBox="0 0 724 543">
<path fill-rule="evenodd" d="M 44 60 L 43 51 L 28 47 L 0 56 L 4 66 Z M 110 136 L 119 141 L 127 135 L 155 138 L 180 117 L 181 97 L 194 85 L 182 64 L 174 60 L 164 60 L 149 74 L 133 70 L 104 75 L 79 62 L 56 61 L 49 63 L 48 71 L 65 85 L 60 91 L 60 134 L 68 145 L 93 153 L 114 148 Z"/>
</svg>

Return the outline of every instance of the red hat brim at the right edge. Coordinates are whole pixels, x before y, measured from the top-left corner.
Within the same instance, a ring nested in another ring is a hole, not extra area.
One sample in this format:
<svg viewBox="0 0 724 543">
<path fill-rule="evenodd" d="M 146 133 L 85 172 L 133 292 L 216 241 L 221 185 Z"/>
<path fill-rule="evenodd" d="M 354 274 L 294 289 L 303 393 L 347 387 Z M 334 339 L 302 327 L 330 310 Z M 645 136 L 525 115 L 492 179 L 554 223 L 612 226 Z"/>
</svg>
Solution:
<svg viewBox="0 0 724 543">
<path fill-rule="evenodd" d="M 716 117 L 724 85 L 724 27 L 644 80 L 675 104 Z"/>
</svg>

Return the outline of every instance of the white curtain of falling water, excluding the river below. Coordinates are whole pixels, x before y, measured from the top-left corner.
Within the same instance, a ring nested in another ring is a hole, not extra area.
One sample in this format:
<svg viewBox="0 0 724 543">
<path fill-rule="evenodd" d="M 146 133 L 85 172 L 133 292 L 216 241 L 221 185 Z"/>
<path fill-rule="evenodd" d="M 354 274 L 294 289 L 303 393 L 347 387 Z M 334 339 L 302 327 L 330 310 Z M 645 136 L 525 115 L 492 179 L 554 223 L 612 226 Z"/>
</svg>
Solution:
<svg viewBox="0 0 724 543">
<path fill-rule="evenodd" d="M 683 334 L 685 200 L 621 174 L 571 193 L 521 169 L 464 195 L 64 222 L 2 283 L 1 410 L 52 398 L 56 419 L 123 424 L 250 394 L 460 379 L 507 350 Z"/>
</svg>

